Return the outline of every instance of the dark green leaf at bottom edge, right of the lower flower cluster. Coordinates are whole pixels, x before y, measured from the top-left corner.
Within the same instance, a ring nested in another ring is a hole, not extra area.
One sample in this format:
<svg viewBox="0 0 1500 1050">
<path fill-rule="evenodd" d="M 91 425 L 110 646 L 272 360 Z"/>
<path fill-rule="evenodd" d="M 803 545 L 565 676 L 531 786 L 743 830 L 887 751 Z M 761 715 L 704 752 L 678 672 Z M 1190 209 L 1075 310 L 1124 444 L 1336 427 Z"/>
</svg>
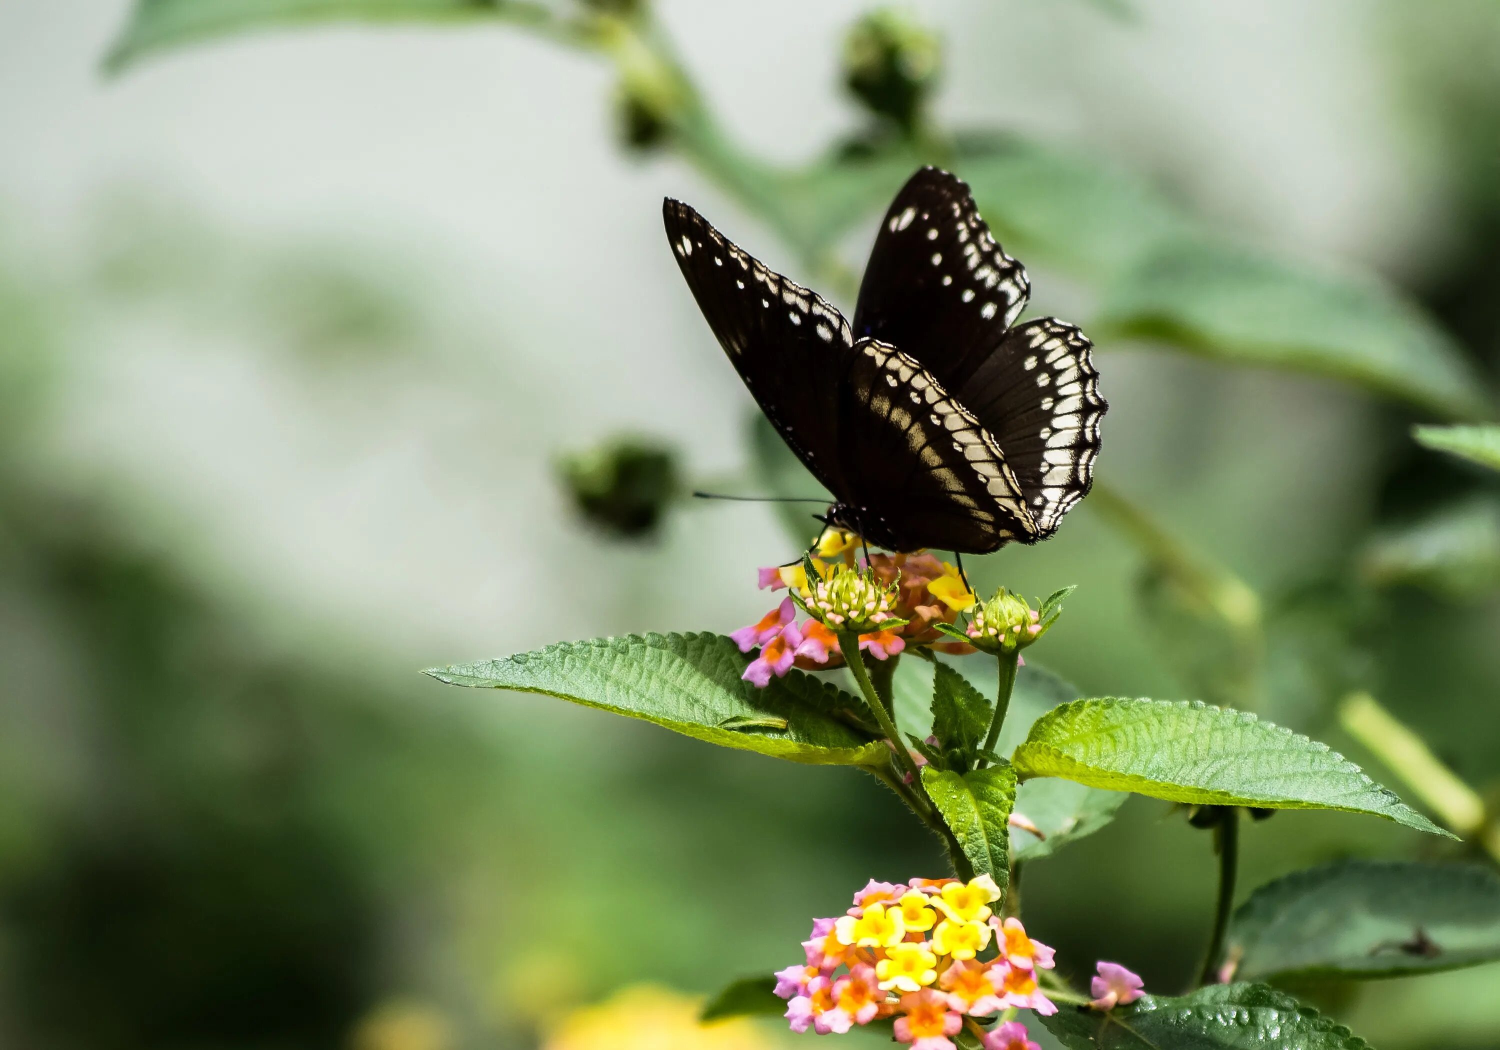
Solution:
<svg viewBox="0 0 1500 1050">
<path fill-rule="evenodd" d="M 1370 1050 L 1342 1024 L 1263 984 L 1142 996 L 1107 1014 L 1064 1006 L 1041 1022 L 1068 1050 Z"/>
</svg>

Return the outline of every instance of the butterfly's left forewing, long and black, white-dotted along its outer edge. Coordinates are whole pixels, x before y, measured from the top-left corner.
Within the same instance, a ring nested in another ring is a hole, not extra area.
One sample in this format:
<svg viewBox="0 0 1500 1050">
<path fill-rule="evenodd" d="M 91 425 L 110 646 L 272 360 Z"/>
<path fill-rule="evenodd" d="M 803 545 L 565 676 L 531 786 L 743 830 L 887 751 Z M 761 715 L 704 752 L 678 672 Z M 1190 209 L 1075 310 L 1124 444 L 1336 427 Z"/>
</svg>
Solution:
<svg viewBox="0 0 1500 1050">
<path fill-rule="evenodd" d="M 849 501 L 838 441 L 838 386 L 855 357 L 849 322 L 687 204 L 668 200 L 662 213 L 678 268 L 760 411 L 824 488 Z"/>
</svg>

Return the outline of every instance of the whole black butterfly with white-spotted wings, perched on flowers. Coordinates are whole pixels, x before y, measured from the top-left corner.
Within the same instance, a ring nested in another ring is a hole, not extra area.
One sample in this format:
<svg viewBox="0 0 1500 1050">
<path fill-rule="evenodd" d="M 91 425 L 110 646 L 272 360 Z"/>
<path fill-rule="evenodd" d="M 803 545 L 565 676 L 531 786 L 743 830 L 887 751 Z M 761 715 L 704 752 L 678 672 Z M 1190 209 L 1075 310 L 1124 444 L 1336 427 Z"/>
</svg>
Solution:
<svg viewBox="0 0 1500 1050">
<path fill-rule="evenodd" d="M 1090 342 L 1026 306 L 1022 264 L 969 188 L 906 183 L 876 237 L 854 327 L 680 201 L 676 262 L 729 360 L 792 452 L 834 494 L 830 524 L 890 550 L 1036 543 L 1089 490 L 1100 452 Z"/>
</svg>

